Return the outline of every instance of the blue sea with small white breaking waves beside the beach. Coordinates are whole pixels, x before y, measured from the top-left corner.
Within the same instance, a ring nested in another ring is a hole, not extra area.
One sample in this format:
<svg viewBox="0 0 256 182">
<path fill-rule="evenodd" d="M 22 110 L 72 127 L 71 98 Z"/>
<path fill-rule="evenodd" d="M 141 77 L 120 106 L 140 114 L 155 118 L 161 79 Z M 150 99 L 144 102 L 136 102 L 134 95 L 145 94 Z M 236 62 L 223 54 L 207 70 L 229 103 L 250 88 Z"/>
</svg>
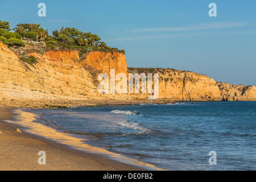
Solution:
<svg viewBox="0 0 256 182">
<path fill-rule="evenodd" d="M 256 102 L 32 110 L 36 122 L 171 170 L 255 170 Z M 209 165 L 209 151 L 217 164 Z"/>
</svg>

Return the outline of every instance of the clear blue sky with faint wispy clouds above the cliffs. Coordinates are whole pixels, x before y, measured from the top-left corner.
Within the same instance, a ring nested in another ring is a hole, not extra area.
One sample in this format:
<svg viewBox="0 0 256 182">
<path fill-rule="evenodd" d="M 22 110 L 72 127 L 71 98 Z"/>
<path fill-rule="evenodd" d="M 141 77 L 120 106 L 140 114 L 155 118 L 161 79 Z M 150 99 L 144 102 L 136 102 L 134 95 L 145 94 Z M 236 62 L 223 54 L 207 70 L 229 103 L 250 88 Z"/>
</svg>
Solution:
<svg viewBox="0 0 256 182">
<path fill-rule="evenodd" d="M 38 4 L 46 3 L 46 17 Z M 209 17 L 208 5 L 217 5 Z M 256 85 L 256 1 L 3 1 L 0 19 L 41 23 L 100 35 L 125 49 L 128 67 L 161 67 L 208 75 L 216 81 Z"/>
</svg>

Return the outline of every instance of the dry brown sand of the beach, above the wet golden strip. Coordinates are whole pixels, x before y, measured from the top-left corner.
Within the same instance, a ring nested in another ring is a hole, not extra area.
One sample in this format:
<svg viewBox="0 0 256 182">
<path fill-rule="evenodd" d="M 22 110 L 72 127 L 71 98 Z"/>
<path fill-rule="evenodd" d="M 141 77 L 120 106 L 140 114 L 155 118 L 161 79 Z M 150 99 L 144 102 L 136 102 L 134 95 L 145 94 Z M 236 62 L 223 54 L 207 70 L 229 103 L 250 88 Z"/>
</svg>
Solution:
<svg viewBox="0 0 256 182">
<path fill-rule="evenodd" d="M 73 148 L 37 137 L 15 132 L 20 126 L 6 123 L 16 117 L 15 107 L 0 106 L 0 170 L 141 170 L 137 166 L 106 159 L 102 155 Z M 46 151 L 46 165 L 38 164 L 38 152 Z"/>
</svg>

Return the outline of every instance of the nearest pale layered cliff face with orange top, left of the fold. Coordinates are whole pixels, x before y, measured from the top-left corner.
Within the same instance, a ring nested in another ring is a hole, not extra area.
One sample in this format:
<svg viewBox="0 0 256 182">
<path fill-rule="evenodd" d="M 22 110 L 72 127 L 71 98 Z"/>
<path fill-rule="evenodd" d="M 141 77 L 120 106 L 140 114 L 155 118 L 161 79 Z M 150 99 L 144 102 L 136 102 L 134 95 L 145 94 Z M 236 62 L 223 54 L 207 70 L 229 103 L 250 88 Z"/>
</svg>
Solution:
<svg viewBox="0 0 256 182">
<path fill-rule="evenodd" d="M 27 64 L 0 43 L 0 100 L 88 99 L 97 97 L 92 76 L 79 64 L 76 51 L 46 52 Z"/>
</svg>

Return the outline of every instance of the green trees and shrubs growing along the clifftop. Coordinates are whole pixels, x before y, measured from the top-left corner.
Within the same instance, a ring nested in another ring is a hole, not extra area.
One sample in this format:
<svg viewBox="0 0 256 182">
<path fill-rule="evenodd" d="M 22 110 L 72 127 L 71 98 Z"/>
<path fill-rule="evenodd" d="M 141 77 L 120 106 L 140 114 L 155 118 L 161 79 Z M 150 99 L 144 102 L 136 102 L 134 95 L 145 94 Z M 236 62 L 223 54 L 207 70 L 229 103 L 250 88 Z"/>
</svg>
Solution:
<svg viewBox="0 0 256 182">
<path fill-rule="evenodd" d="M 82 32 L 77 28 L 62 27 L 52 35 L 36 23 L 19 23 L 11 31 L 9 22 L 0 20 L 0 41 L 9 47 L 25 47 L 27 44 L 44 47 L 48 50 L 77 50 L 80 54 L 90 51 L 121 52 L 110 48 L 101 38 L 91 32 Z"/>
</svg>

